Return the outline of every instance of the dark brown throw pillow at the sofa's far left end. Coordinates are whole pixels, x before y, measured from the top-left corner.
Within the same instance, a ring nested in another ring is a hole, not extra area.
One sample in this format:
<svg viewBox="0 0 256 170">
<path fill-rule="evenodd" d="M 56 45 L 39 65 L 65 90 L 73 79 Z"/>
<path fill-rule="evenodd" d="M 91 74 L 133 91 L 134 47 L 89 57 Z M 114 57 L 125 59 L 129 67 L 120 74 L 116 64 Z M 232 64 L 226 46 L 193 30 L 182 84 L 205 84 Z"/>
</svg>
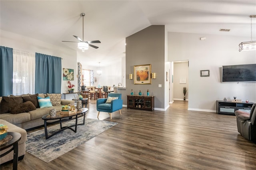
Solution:
<svg viewBox="0 0 256 170">
<path fill-rule="evenodd" d="M 10 108 L 15 105 L 20 105 L 23 103 L 22 97 L 6 97 L 3 96 L 2 101 L 0 103 L 0 112 L 1 113 L 9 113 Z"/>
</svg>

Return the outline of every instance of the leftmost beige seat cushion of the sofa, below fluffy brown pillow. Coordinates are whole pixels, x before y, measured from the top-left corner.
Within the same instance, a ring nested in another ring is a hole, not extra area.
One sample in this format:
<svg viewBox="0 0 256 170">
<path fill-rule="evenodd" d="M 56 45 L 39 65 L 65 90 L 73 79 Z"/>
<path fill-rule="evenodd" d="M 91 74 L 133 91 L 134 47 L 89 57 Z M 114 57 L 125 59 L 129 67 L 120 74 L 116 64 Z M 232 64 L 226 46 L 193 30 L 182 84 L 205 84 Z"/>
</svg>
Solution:
<svg viewBox="0 0 256 170">
<path fill-rule="evenodd" d="M 5 120 L 9 123 L 12 123 L 14 125 L 31 120 L 29 113 L 20 113 L 20 114 L 15 114 L 15 115 L 11 114 L 11 113 L 4 113 L 4 114 L 1 114 L 1 119 Z"/>
</svg>

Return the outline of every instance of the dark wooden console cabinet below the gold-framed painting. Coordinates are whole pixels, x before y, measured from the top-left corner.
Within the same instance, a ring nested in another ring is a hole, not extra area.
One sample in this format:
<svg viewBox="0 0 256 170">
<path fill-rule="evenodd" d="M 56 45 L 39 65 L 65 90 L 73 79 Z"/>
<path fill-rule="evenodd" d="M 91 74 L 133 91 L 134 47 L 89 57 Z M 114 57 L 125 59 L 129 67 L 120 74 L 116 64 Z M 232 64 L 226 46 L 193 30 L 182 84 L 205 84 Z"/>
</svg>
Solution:
<svg viewBox="0 0 256 170">
<path fill-rule="evenodd" d="M 154 110 L 154 96 L 127 95 L 127 109 Z"/>
</svg>

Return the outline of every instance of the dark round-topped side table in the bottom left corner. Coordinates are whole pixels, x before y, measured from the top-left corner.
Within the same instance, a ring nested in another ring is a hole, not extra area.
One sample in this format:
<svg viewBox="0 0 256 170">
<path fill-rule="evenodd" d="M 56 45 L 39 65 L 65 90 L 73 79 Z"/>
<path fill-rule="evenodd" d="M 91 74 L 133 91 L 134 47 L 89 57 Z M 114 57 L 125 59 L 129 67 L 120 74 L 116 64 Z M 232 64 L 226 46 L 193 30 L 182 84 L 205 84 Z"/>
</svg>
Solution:
<svg viewBox="0 0 256 170">
<path fill-rule="evenodd" d="M 13 170 L 17 170 L 18 168 L 18 142 L 21 138 L 21 134 L 18 132 L 8 132 L 7 136 L 11 135 L 12 139 L 10 139 L 10 141 L 8 141 L 5 144 L 2 144 L 0 146 L 0 150 L 4 150 L 7 149 L 9 147 L 11 147 L 7 152 L 3 153 L 0 155 L 0 157 L 7 155 L 8 153 L 12 152 L 13 150 L 13 166 L 12 169 Z"/>
</svg>

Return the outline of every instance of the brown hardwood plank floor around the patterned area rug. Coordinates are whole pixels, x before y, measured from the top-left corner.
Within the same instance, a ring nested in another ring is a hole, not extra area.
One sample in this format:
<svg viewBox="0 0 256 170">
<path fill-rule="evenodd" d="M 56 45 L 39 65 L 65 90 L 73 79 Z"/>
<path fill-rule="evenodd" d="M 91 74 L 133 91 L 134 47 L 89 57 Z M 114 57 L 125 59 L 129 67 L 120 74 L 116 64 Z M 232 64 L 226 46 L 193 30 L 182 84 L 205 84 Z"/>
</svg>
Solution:
<svg viewBox="0 0 256 170">
<path fill-rule="evenodd" d="M 97 119 L 96 100 L 87 118 Z M 236 117 L 188 111 L 174 101 L 167 111 L 116 111 L 118 124 L 59 158 L 45 163 L 26 153 L 19 170 L 255 170 L 256 144 L 244 139 Z M 111 121 L 108 113 L 100 120 Z M 12 163 L 1 165 L 12 169 Z"/>
</svg>

